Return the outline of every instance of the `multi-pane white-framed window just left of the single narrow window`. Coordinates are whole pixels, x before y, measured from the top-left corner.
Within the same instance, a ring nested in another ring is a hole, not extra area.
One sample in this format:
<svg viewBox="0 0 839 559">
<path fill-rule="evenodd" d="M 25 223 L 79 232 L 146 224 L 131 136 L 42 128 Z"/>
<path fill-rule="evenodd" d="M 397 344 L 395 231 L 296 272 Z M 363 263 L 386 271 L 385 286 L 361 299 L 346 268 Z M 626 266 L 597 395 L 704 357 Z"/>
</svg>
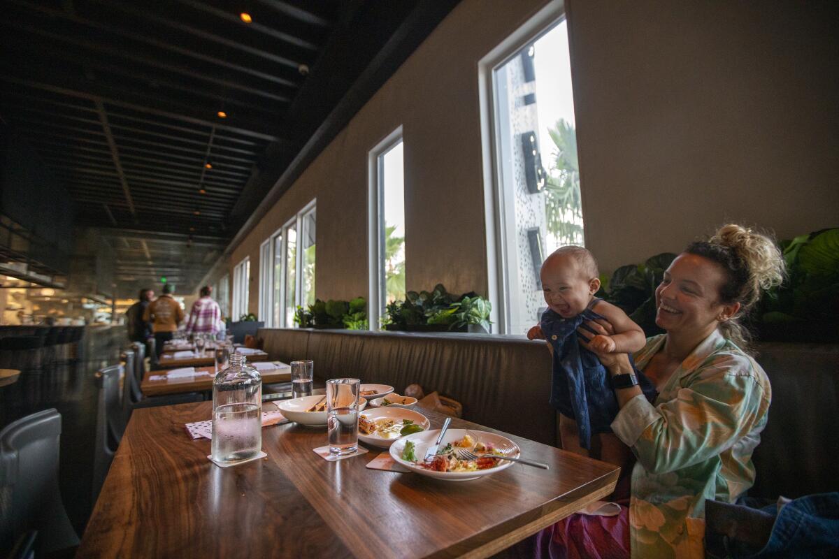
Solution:
<svg viewBox="0 0 839 559">
<path fill-rule="evenodd" d="M 296 308 L 315 303 L 315 215 L 312 200 L 259 247 L 259 313 L 269 328 L 293 327 Z"/>
</svg>

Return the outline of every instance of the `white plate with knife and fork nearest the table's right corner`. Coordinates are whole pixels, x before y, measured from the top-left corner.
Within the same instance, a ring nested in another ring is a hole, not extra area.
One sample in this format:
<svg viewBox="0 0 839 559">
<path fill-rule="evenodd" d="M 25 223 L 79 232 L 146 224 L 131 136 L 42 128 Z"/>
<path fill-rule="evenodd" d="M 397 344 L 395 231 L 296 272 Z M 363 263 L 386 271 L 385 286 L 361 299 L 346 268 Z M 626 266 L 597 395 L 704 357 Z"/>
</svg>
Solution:
<svg viewBox="0 0 839 559">
<path fill-rule="evenodd" d="M 498 448 L 498 450 L 506 451 L 504 453 L 510 458 L 519 458 L 519 455 L 521 454 L 519 445 L 513 443 L 513 441 L 507 437 L 502 437 L 494 432 L 475 431 L 473 429 L 449 429 L 446 431 L 446 436 L 443 437 L 443 440 L 440 443 L 440 448 L 444 448 L 446 444 L 454 443 L 455 441 L 463 438 L 467 431 L 472 437 L 477 436 L 478 440 L 482 443 L 492 444 L 492 446 Z M 425 449 L 436 443 L 437 437 L 439 436 L 440 429 L 434 429 L 433 431 L 415 432 L 413 435 L 406 435 L 405 437 L 398 438 L 392 445 L 390 445 L 390 456 L 393 460 L 402 464 L 405 468 L 408 468 L 412 472 L 416 472 L 420 475 L 426 475 L 430 478 L 446 479 L 449 481 L 477 479 L 482 476 L 495 474 L 503 469 L 507 469 L 514 463 L 509 460 L 501 460 L 498 463 L 498 466 L 494 468 L 479 469 L 474 472 L 437 472 L 402 459 L 402 451 L 405 448 L 405 443 L 408 441 L 414 442 L 414 453 L 417 458 L 422 459 L 422 457 L 425 456 Z M 466 450 L 472 450 L 472 448 L 466 448 Z"/>
</svg>

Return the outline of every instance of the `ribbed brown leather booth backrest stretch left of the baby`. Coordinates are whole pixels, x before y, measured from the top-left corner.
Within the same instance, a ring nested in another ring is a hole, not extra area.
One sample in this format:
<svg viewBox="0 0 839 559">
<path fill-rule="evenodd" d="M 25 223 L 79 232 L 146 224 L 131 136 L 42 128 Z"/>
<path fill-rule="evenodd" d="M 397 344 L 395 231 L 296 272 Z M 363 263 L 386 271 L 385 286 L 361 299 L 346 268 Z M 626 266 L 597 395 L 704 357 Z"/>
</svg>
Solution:
<svg viewBox="0 0 839 559">
<path fill-rule="evenodd" d="M 556 444 L 550 354 L 527 339 L 479 334 L 260 329 L 271 359 L 315 361 L 320 380 L 341 376 L 393 386 L 417 383 L 463 405 L 472 422 Z"/>
</svg>

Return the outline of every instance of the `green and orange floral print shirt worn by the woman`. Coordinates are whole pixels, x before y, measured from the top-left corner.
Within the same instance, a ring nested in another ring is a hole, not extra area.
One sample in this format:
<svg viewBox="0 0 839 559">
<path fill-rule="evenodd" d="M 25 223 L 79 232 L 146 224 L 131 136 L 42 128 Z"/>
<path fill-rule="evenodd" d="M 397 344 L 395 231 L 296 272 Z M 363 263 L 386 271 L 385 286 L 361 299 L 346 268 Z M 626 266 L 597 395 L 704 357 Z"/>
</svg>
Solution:
<svg viewBox="0 0 839 559">
<path fill-rule="evenodd" d="M 639 370 L 666 338 L 647 340 L 635 355 Z M 705 500 L 733 502 L 752 486 L 752 452 L 771 399 L 760 365 L 715 330 L 654 404 L 638 395 L 621 408 L 612 430 L 638 458 L 629 503 L 633 557 L 705 556 Z"/>
</svg>

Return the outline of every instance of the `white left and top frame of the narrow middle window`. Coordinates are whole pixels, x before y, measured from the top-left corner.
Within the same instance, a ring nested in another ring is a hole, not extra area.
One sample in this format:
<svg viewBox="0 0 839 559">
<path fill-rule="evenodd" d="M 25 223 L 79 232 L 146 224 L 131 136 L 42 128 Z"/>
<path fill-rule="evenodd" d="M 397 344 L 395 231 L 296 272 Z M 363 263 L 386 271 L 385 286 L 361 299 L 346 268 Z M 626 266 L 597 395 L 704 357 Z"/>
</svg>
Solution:
<svg viewBox="0 0 839 559">
<path fill-rule="evenodd" d="M 379 324 L 384 316 L 384 302 L 387 298 L 384 270 L 384 156 L 395 148 L 399 142 L 404 144 L 402 125 L 399 125 L 367 152 L 367 322 L 373 332 L 381 329 Z M 373 302 L 375 302 L 375 305 Z"/>
</svg>

